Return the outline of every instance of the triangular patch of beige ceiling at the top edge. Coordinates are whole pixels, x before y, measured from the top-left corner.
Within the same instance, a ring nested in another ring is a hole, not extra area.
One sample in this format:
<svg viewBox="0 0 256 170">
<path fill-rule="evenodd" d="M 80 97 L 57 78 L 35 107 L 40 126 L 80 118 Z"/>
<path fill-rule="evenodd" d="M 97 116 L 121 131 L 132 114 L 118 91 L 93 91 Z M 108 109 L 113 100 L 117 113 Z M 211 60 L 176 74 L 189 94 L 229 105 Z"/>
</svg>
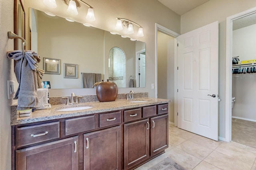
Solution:
<svg viewBox="0 0 256 170">
<path fill-rule="evenodd" d="M 164 6 L 167 6 L 170 10 L 176 12 L 179 15 L 183 15 L 186 12 L 204 4 L 209 0 L 158 0 Z"/>
</svg>

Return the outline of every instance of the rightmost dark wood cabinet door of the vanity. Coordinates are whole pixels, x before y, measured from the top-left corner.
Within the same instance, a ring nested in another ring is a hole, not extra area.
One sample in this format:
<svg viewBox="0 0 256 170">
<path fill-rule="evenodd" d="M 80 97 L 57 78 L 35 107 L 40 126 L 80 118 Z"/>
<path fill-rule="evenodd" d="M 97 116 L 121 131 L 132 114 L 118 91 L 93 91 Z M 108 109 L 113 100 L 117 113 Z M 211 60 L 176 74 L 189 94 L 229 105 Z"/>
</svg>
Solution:
<svg viewBox="0 0 256 170">
<path fill-rule="evenodd" d="M 168 148 L 168 115 L 161 115 L 150 119 L 150 155 L 154 155 Z"/>
</svg>

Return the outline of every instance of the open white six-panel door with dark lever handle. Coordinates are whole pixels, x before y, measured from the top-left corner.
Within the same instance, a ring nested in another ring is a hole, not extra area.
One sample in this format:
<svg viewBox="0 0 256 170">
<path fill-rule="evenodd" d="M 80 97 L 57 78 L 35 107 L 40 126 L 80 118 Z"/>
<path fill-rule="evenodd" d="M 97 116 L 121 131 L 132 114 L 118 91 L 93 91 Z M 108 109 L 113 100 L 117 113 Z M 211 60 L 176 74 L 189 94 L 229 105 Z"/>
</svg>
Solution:
<svg viewBox="0 0 256 170">
<path fill-rule="evenodd" d="M 216 141 L 218 36 L 218 21 L 180 35 L 177 71 L 178 127 Z"/>
</svg>

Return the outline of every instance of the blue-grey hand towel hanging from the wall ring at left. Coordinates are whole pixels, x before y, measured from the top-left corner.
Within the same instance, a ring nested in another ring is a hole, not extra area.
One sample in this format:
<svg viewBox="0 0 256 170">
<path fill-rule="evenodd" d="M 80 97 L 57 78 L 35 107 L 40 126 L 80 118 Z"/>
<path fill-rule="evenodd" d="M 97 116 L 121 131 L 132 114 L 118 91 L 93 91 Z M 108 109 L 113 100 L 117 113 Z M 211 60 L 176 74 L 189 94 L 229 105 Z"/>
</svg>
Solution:
<svg viewBox="0 0 256 170">
<path fill-rule="evenodd" d="M 14 99 L 18 99 L 17 110 L 35 108 L 38 104 L 36 69 L 40 57 L 33 51 L 25 51 L 23 58 L 20 50 L 8 52 L 7 57 L 17 61 L 15 75 L 19 85 L 14 97 Z"/>
</svg>

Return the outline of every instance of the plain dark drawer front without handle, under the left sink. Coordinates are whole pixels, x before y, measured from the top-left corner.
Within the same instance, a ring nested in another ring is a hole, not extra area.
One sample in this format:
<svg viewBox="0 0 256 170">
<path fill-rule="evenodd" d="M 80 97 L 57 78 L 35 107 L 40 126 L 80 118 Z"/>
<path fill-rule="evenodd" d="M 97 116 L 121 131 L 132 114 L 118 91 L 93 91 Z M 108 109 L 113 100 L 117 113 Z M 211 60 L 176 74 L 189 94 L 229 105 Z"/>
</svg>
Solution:
<svg viewBox="0 0 256 170">
<path fill-rule="evenodd" d="M 85 116 L 65 120 L 65 135 L 72 135 L 95 129 L 95 116 Z"/>
</svg>

